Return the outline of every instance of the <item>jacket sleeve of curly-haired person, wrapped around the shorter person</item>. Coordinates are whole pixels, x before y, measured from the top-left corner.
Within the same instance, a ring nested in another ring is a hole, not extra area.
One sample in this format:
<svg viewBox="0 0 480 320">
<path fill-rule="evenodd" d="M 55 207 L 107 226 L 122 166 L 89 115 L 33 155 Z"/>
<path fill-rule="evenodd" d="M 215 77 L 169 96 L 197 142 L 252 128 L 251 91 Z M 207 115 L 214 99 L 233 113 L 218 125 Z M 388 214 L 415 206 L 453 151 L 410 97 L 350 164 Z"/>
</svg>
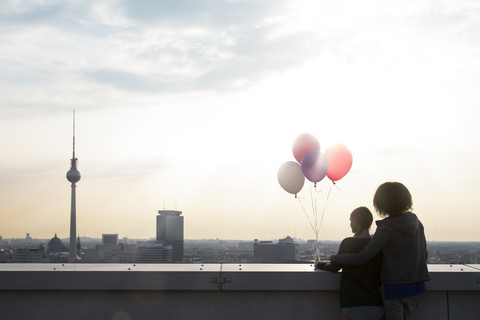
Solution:
<svg viewBox="0 0 480 320">
<path fill-rule="evenodd" d="M 382 251 L 388 240 L 388 229 L 380 227 L 373 235 L 370 242 L 358 253 L 343 253 L 336 256 L 338 264 L 358 265 L 368 262 L 377 253 Z"/>
</svg>

